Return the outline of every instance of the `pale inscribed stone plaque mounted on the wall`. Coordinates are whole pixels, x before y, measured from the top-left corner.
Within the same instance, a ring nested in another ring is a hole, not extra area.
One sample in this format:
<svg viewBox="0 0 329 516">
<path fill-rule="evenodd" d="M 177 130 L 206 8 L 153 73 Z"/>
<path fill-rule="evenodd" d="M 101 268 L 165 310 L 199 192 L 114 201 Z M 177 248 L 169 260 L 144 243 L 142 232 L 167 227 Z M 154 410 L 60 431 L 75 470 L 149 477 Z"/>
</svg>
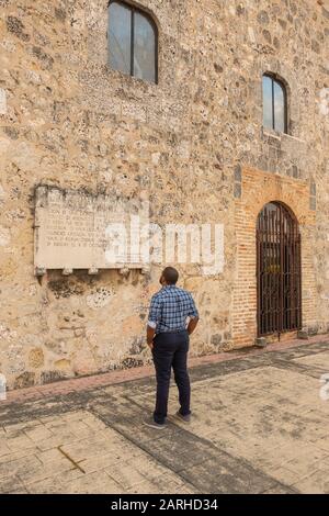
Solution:
<svg viewBox="0 0 329 516">
<path fill-rule="evenodd" d="M 141 200 L 39 186 L 35 189 L 36 273 L 145 268 L 139 238 L 145 224 L 148 203 Z"/>
</svg>

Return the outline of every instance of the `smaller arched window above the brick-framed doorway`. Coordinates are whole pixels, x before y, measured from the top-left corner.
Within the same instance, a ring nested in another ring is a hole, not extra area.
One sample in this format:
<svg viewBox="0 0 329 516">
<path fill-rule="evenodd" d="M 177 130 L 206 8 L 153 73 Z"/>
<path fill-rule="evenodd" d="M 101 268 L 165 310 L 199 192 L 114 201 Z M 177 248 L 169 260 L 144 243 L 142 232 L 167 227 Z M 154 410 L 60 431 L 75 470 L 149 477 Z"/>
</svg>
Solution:
<svg viewBox="0 0 329 516">
<path fill-rule="evenodd" d="M 263 126 L 280 133 L 287 132 L 286 90 L 270 75 L 263 76 Z"/>
</svg>

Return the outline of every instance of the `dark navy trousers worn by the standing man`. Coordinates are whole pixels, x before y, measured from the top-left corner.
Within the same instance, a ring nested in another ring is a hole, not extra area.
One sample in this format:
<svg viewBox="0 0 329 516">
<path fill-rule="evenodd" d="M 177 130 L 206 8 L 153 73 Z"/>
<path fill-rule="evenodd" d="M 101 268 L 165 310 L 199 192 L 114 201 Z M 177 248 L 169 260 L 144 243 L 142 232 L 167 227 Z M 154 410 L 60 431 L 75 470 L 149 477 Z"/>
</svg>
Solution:
<svg viewBox="0 0 329 516">
<path fill-rule="evenodd" d="M 164 423 L 167 417 L 171 368 L 179 389 L 180 412 L 184 416 L 191 413 L 191 386 L 188 373 L 189 344 L 190 336 L 185 329 L 177 333 L 161 333 L 154 339 L 152 357 L 157 377 L 154 418 L 157 423 Z"/>
</svg>

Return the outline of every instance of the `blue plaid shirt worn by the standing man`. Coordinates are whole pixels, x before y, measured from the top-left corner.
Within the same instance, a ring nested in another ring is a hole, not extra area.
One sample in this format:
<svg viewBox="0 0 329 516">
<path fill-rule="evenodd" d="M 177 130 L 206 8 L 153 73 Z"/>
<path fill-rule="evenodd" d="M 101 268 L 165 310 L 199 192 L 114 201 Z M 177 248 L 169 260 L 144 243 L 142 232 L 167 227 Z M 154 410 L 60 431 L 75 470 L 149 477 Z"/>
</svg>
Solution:
<svg viewBox="0 0 329 516">
<path fill-rule="evenodd" d="M 157 334 L 181 330 L 186 328 L 188 317 L 198 317 L 192 295 L 170 284 L 152 296 L 147 324 Z"/>
</svg>

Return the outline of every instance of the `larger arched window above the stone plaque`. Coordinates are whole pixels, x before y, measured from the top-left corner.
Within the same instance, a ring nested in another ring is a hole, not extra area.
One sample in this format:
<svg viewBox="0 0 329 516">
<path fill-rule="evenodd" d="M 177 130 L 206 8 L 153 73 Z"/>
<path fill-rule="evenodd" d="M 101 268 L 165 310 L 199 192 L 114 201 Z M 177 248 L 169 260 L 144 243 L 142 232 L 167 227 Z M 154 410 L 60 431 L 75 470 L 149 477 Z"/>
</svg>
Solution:
<svg viewBox="0 0 329 516">
<path fill-rule="evenodd" d="M 158 32 L 151 18 L 134 5 L 109 5 L 109 63 L 111 68 L 157 82 Z"/>
</svg>

